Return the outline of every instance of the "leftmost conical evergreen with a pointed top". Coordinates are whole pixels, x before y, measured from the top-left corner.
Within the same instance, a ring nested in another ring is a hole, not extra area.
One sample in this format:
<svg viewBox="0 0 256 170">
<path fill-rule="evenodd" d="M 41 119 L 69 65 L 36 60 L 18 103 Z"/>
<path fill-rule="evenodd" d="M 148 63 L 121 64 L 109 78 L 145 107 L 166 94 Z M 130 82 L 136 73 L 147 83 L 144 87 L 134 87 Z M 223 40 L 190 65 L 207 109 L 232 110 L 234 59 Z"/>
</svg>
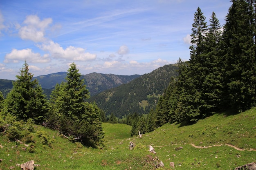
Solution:
<svg viewBox="0 0 256 170">
<path fill-rule="evenodd" d="M 16 75 L 13 81 L 13 89 L 5 99 L 5 111 L 15 115 L 19 120 L 33 119 L 35 122 L 43 122 L 49 110 L 49 104 L 37 79 L 32 80 L 29 73 L 29 65 L 25 64 L 20 69 L 20 75 Z"/>
</svg>

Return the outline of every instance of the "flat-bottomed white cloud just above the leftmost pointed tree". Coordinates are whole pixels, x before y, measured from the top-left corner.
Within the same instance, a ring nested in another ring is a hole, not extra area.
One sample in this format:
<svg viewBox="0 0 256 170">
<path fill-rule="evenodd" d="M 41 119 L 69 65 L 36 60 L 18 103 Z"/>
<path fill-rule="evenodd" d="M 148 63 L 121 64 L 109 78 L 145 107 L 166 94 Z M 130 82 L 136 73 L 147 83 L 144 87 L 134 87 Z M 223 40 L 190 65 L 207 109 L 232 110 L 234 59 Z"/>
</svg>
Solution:
<svg viewBox="0 0 256 170">
<path fill-rule="evenodd" d="M 18 63 L 19 61 L 32 62 L 32 63 L 46 63 L 50 62 L 49 55 L 41 56 L 40 53 L 34 53 L 31 49 L 17 50 L 13 49 L 11 53 L 5 55 L 4 62 Z"/>
</svg>

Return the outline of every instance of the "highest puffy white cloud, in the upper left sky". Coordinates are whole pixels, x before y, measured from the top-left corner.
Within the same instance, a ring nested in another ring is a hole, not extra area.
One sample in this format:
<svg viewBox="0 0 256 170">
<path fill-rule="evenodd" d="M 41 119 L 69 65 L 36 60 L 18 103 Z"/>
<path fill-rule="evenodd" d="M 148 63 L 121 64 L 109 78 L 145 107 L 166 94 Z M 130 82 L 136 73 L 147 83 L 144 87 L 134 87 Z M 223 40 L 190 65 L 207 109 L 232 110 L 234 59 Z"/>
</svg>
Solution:
<svg viewBox="0 0 256 170">
<path fill-rule="evenodd" d="M 34 42 L 45 41 L 45 29 L 52 23 L 52 18 L 40 20 L 36 15 L 28 15 L 23 22 L 25 26 L 19 29 L 19 35 L 22 40 L 31 40 Z"/>
</svg>

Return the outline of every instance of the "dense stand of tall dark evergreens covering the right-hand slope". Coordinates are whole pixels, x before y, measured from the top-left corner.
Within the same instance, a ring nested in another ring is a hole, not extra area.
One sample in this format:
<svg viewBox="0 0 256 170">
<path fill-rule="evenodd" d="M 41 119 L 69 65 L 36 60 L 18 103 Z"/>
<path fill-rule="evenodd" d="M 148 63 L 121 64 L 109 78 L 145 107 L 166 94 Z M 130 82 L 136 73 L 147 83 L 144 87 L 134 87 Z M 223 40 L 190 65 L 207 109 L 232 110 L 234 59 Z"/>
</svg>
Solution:
<svg viewBox="0 0 256 170">
<path fill-rule="evenodd" d="M 239 113 L 256 106 L 256 0 L 231 2 L 223 27 L 214 12 L 208 25 L 198 7 L 189 61 L 178 60 L 178 76 L 171 77 L 143 128 L 134 119 L 131 135 L 148 129 L 148 122 L 154 130 L 168 122 L 193 124 L 223 110 Z"/>
</svg>

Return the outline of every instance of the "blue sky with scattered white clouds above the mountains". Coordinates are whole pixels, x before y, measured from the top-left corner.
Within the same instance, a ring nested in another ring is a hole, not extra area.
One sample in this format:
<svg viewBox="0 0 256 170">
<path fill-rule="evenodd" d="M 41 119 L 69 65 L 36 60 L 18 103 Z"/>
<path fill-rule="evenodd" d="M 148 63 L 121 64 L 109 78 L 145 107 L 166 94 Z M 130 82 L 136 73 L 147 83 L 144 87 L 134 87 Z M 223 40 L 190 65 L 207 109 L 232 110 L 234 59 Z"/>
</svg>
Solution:
<svg viewBox="0 0 256 170">
<path fill-rule="evenodd" d="M 189 60 L 196 9 L 225 24 L 229 0 L 0 0 L 0 79 L 25 61 L 34 76 L 143 75 Z"/>
</svg>

